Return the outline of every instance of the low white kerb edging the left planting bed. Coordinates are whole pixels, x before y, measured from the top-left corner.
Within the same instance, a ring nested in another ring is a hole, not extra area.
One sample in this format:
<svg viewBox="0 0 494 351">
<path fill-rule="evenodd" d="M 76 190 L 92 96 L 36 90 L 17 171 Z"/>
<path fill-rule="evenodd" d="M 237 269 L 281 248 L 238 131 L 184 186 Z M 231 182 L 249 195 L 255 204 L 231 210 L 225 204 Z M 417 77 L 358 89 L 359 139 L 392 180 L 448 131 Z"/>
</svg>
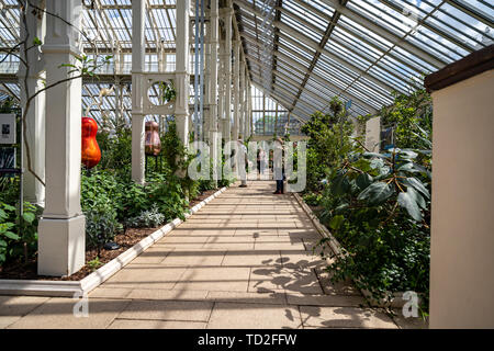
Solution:
<svg viewBox="0 0 494 351">
<path fill-rule="evenodd" d="M 220 189 L 213 195 L 193 206 L 190 210 L 190 213 L 186 214 L 186 219 L 226 191 L 226 186 Z M 182 219 L 175 218 L 172 222 L 154 231 L 132 248 L 122 252 L 116 258 L 80 281 L 0 280 L 0 295 L 72 297 L 75 294 L 78 294 L 79 296 L 82 296 L 83 294 L 87 294 L 98 287 L 101 283 L 119 272 L 153 244 L 161 239 L 165 235 L 177 228 L 182 223 Z"/>
</svg>

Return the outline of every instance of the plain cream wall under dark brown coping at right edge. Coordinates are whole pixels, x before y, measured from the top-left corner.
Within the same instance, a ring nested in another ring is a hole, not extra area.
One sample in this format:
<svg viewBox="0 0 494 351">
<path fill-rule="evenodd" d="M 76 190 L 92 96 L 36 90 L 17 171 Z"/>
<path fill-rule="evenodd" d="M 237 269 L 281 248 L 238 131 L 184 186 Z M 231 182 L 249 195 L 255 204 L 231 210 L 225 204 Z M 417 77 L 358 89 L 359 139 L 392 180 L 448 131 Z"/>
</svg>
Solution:
<svg viewBox="0 0 494 351">
<path fill-rule="evenodd" d="M 494 71 L 433 93 L 431 328 L 494 328 Z"/>
</svg>

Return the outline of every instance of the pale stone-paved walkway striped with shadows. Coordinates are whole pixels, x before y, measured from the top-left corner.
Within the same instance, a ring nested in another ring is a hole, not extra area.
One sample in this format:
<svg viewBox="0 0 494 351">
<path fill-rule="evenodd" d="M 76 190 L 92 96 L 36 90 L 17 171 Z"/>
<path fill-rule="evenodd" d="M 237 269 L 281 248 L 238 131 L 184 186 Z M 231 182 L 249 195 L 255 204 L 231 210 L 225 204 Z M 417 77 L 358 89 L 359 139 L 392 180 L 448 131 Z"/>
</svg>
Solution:
<svg viewBox="0 0 494 351">
<path fill-rule="evenodd" d="M 398 328 L 332 284 L 312 253 L 321 238 L 273 183 L 233 186 L 89 295 L 75 301 L 0 296 L 0 328 Z"/>
</svg>

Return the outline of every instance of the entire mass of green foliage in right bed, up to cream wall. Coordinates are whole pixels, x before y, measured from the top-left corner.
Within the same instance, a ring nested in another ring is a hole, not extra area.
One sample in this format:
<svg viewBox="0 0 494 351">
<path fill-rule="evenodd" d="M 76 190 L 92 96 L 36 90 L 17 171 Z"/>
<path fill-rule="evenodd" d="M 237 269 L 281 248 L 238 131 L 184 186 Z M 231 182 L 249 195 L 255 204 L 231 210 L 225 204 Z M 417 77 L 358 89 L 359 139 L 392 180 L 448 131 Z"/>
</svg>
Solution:
<svg viewBox="0 0 494 351">
<path fill-rule="evenodd" d="M 307 167 L 317 171 L 304 199 L 322 208 L 319 219 L 340 242 L 343 254 L 327 270 L 333 282 L 351 279 L 370 299 L 390 299 L 392 292 L 414 291 L 428 304 L 430 245 L 431 114 L 424 92 L 395 94 L 383 111 L 394 123 L 394 148 L 369 152 L 360 139 L 325 127 L 340 127 L 338 104 L 333 116 L 315 114 L 310 135 Z M 340 113 L 340 112 L 339 112 Z M 366 121 L 362 116 L 359 120 Z M 343 129 L 340 129 L 343 131 Z M 326 135 L 330 141 L 323 140 Z M 336 138 L 335 138 L 335 135 Z M 339 138 L 341 139 L 339 139 Z M 341 146 L 341 147 L 339 147 Z M 312 152 L 312 155 L 311 155 Z M 322 155 L 327 155 L 324 169 Z M 311 159 L 312 158 L 312 159 Z M 311 165 L 312 163 L 312 165 Z M 310 170 L 307 170 L 308 178 Z M 328 239 L 321 240 L 324 258 Z"/>
</svg>

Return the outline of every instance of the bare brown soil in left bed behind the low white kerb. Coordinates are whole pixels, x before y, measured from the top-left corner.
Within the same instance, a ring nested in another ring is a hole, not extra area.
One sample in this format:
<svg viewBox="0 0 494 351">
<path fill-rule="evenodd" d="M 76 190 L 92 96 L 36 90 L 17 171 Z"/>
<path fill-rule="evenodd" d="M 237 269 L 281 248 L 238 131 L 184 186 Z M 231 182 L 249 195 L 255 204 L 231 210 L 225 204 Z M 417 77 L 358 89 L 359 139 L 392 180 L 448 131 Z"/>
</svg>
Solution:
<svg viewBox="0 0 494 351">
<path fill-rule="evenodd" d="M 190 202 L 189 207 L 192 208 L 201 201 L 207 199 L 212 194 L 214 194 L 217 190 L 207 190 L 200 194 L 198 197 Z M 110 262 L 114 258 L 116 258 L 122 252 L 132 248 L 134 245 L 143 240 L 145 237 L 149 236 L 151 233 L 156 231 L 157 228 L 127 228 L 125 233 L 119 234 L 114 238 L 114 242 L 120 245 L 120 249 L 117 250 L 104 250 L 101 248 L 99 254 L 100 264 L 97 267 L 91 267 L 88 262 L 98 258 L 98 249 L 88 249 L 86 250 L 86 265 L 80 269 L 77 273 L 74 273 L 70 276 L 44 276 L 37 275 L 37 257 L 32 258 L 27 263 L 25 262 L 10 262 L 0 267 L 0 279 L 15 279 L 15 280 L 45 280 L 45 281 L 80 281 L 81 279 L 88 276 L 98 268 L 103 265 L 104 263 Z"/>
</svg>

